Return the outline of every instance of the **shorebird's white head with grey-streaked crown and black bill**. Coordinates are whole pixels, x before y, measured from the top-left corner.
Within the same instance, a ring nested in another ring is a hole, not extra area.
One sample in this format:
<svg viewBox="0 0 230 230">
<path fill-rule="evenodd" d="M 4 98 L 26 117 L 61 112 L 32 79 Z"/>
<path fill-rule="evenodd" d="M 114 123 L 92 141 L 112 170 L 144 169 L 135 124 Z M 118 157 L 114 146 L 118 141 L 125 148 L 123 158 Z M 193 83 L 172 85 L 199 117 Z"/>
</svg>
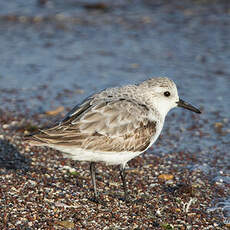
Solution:
<svg viewBox="0 0 230 230">
<path fill-rule="evenodd" d="M 163 117 L 175 107 L 183 107 L 201 113 L 200 110 L 179 98 L 176 84 L 166 77 L 151 78 L 141 83 L 140 87 L 150 95 L 150 103 Z"/>
</svg>

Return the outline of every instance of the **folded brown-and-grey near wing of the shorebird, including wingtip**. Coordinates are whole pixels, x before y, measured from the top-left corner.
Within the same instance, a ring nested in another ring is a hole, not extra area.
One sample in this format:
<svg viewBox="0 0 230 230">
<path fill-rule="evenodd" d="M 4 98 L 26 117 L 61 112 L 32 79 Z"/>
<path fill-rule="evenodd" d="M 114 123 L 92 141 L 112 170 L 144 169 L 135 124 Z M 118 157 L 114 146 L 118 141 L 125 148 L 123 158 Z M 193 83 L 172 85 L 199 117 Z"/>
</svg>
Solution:
<svg viewBox="0 0 230 230">
<path fill-rule="evenodd" d="M 57 126 L 33 136 L 47 145 L 112 152 L 143 151 L 156 133 L 148 108 L 134 100 L 117 99 L 82 106 Z"/>
</svg>

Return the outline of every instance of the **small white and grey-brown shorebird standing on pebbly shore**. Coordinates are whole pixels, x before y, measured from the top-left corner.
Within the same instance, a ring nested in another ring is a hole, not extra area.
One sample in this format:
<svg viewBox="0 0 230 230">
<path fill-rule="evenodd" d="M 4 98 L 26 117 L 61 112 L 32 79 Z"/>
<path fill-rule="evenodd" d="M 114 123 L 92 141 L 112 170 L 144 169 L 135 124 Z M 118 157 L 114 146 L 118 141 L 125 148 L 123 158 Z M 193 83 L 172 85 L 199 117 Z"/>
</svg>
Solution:
<svg viewBox="0 0 230 230">
<path fill-rule="evenodd" d="M 99 202 L 96 163 L 120 166 L 124 200 L 128 201 L 126 164 L 145 152 L 159 137 L 167 113 L 175 108 L 201 113 L 180 99 L 167 77 L 107 88 L 86 98 L 50 128 L 31 135 L 30 145 L 48 146 L 64 157 L 90 162 L 93 200 Z"/>
</svg>

